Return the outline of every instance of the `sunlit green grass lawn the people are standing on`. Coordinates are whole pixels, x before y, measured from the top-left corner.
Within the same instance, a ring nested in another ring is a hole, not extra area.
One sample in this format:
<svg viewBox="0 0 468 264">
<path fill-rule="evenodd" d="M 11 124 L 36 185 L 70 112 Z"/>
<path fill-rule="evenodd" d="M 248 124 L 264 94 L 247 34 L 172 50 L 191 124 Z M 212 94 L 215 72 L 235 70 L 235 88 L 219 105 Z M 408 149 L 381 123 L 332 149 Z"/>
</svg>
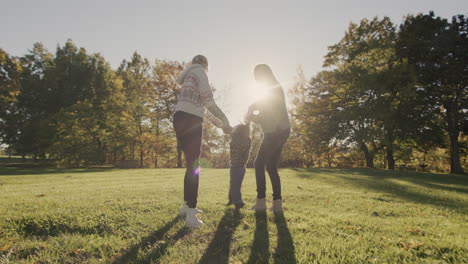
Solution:
<svg viewBox="0 0 468 264">
<path fill-rule="evenodd" d="M 205 169 L 205 225 L 188 230 L 181 169 L 0 167 L 0 263 L 468 263 L 467 176 L 280 174 L 284 215 L 256 214 L 226 207 L 228 170 Z"/>
</svg>

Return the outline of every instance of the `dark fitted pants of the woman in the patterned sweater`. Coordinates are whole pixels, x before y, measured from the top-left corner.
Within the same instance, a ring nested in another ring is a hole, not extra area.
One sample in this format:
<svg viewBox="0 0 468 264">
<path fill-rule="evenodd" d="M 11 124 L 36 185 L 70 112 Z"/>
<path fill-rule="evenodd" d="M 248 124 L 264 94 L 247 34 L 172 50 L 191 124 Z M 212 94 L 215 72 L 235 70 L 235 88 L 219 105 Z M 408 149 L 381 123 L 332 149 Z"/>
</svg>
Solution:
<svg viewBox="0 0 468 264">
<path fill-rule="evenodd" d="M 188 207 L 197 207 L 200 177 L 200 151 L 203 137 L 203 119 L 178 111 L 174 114 L 174 130 L 185 155 L 187 170 L 184 178 L 184 201 Z"/>
</svg>

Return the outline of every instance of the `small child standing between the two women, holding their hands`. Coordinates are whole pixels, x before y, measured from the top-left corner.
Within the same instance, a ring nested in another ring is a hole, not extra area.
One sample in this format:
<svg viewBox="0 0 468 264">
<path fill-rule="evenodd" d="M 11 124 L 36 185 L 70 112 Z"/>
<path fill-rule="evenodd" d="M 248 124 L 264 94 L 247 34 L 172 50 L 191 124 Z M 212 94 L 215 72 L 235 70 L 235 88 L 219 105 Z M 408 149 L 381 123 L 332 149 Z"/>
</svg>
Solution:
<svg viewBox="0 0 468 264">
<path fill-rule="evenodd" d="M 252 140 L 250 139 L 250 124 L 240 124 L 235 126 L 231 132 L 230 143 L 230 183 L 229 183 L 229 202 L 228 205 L 234 204 L 236 207 L 243 207 L 241 186 L 245 175 L 245 165 L 249 159 L 250 147 Z"/>
</svg>

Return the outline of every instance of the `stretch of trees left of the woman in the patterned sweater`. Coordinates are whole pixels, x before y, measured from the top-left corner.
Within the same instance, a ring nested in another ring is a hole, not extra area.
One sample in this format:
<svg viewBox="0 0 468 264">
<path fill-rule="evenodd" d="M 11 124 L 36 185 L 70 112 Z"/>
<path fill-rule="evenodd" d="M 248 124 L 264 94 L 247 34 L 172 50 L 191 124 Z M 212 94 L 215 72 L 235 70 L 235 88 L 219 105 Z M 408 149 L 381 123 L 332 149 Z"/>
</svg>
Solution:
<svg viewBox="0 0 468 264">
<path fill-rule="evenodd" d="M 68 40 L 49 53 L 36 43 L 21 58 L 1 50 L 0 139 L 10 152 L 59 166 L 135 159 L 176 166 L 170 116 L 182 64 L 135 53 L 114 72 L 99 54 Z"/>
</svg>

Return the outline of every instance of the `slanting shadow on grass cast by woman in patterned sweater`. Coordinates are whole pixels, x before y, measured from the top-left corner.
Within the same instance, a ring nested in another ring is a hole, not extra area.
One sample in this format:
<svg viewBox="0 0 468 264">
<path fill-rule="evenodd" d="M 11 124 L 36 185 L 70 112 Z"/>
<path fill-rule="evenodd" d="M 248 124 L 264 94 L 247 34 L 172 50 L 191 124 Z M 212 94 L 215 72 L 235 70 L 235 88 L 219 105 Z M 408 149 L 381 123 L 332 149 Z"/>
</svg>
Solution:
<svg viewBox="0 0 468 264">
<path fill-rule="evenodd" d="M 132 263 L 132 262 L 135 263 L 139 251 L 145 250 L 149 246 L 153 246 L 153 244 L 155 244 L 158 241 L 162 241 L 165 234 L 175 224 L 177 224 L 180 220 L 182 220 L 182 218 L 175 217 L 170 222 L 166 223 L 163 227 L 161 227 L 158 230 L 154 231 L 153 233 L 151 233 L 147 237 L 144 237 L 143 239 L 141 239 L 139 243 L 137 243 L 137 244 L 131 246 L 130 248 L 128 248 L 127 252 L 125 254 L 121 255 L 117 259 L 114 259 L 112 261 L 112 263 L 114 263 L 114 264 L 117 264 L 117 263 Z M 177 232 L 176 235 L 174 235 L 174 238 L 179 239 L 181 237 L 181 235 L 183 235 L 183 234 L 185 234 L 185 232 L 187 232 L 185 230 L 186 230 L 185 228 L 179 230 L 179 232 Z M 178 237 L 176 237 L 176 236 L 178 236 Z M 156 249 L 154 249 L 149 255 L 151 255 L 151 256 L 157 255 L 157 256 L 161 257 L 165 253 L 165 251 L 167 250 L 168 247 L 169 247 L 168 243 L 162 243 L 158 247 L 156 247 Z M 158 254 L 154 254 L 154 253 L 158 253 Z M 145 259 L 148 260 L 148 262 L 149 262 L 148 255 L 145 257 Z M 142 263 L 142 262 L 139 260 L 138 263 Z"/>
</svg>

